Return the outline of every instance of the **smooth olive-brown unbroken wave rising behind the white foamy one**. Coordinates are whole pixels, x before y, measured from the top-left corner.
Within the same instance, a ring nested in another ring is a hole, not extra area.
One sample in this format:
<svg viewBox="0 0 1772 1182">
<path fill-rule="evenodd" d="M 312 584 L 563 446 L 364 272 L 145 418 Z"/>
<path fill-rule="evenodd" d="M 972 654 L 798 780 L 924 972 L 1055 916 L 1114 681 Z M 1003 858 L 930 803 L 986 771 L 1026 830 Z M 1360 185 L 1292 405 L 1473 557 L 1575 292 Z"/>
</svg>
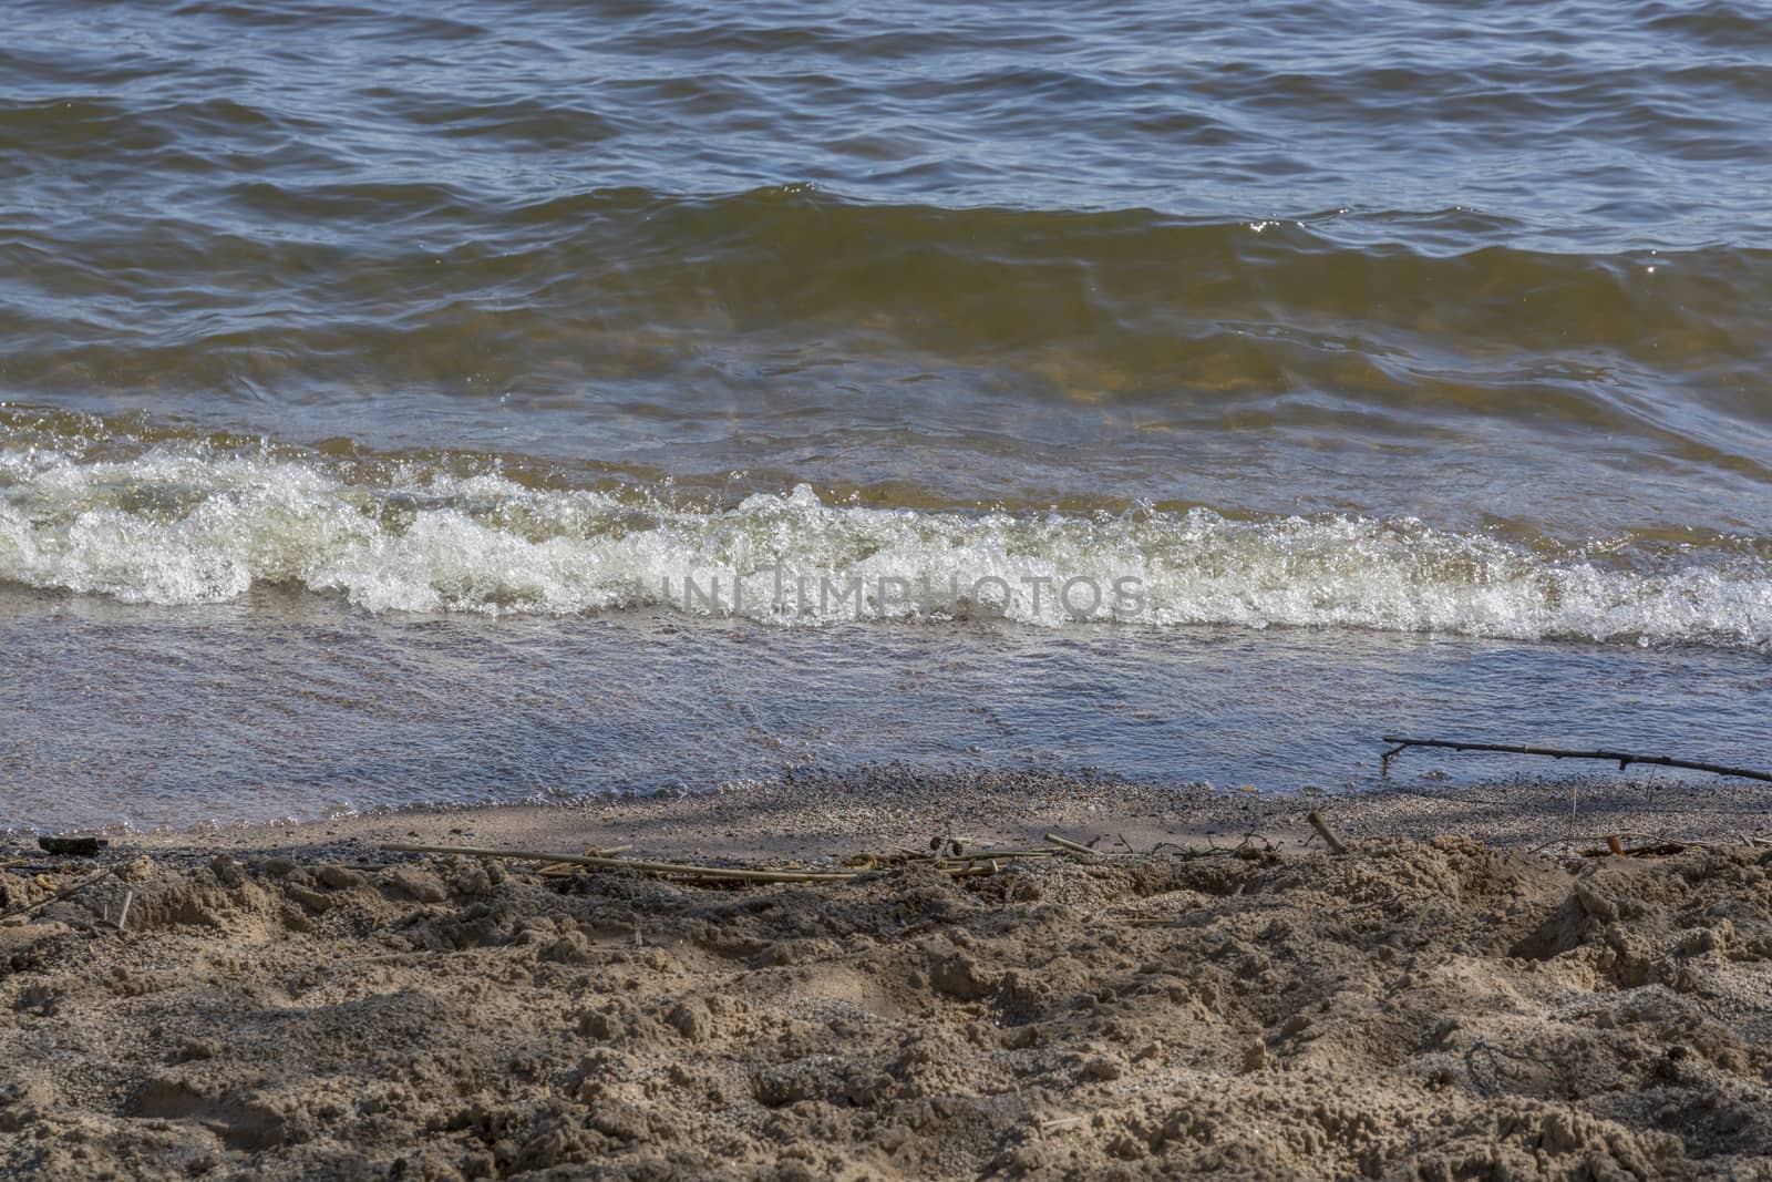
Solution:
<svg viewBox="0 0 1772 1182">
<path fill-rule="evenodd" d="M 595 342 L 649 323 L 714 337 L 806 324 L 946 354 L 1092 340 L 1125 354 L 1134 376 L 1173 381 L 1191 346 L 1285 324 L 1343 344 L 1377 335 L 1428 360 L 1591 347 L 1678 367 L 1699 349 L 1712 363 L 1763 360 L 1758 308 L 1772 299 L 1772 250 L 1643 237 L 1533 250 L 1519 245 L 1519 225 L 1464 207 L 1200 220 L 879 204 L 812 184 L 489 202 L 436 181 L 262 177 L 236 183 L 230 198 L 308 230 L 163 216 L 89 227 L 78 248 L 53 227 L 27 225 L 7 246 L 37 271 L 53 261 L 105 278 L 119 298 L 115 323 L 103 303 L 85 315 L 128 331 L 131 349 L 174 354 L 246 331 L 260 347 L 315 351 L 340 335 L 372 346 L 418 333 L 418 346 L 468 333 L 496 351 L 514 331 L 548 342 L 549 326 Z M 365 234 L 370 214 L 377 230 L 427 229 Z M 264 276 L 278 276 L 287 333 L 268 331 Z M 165 305 L 158 331 L 145 333 L 124 298 Z"/>
</svg>

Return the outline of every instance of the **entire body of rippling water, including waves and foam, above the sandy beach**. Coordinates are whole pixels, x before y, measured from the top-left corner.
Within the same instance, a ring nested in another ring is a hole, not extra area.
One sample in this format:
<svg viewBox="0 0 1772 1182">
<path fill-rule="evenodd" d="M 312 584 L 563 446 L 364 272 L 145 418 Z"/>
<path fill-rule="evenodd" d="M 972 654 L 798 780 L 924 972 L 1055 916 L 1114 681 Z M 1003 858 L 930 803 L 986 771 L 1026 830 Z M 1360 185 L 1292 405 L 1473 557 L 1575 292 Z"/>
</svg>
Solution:
<svg viewBox="0 0 1772 1182">
<path fill-rule="evenodd" d="M 1772 750 L 1760 5 L 9 18 L 0 820 Z"/>
</svg>

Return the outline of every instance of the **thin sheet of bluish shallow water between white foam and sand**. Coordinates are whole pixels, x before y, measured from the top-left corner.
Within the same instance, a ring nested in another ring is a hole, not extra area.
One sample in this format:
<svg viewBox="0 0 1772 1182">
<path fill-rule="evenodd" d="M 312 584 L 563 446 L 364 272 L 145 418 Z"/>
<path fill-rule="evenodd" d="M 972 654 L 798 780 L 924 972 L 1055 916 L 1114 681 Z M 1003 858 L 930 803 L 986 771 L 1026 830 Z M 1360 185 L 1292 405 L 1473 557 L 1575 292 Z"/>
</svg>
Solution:
<svg viewBox="0 0 1772 1182">
<path fill-rule="evenodd" d="M 202 608 L 14 594 L 0 643 L 18 826 L 709 790 L 891 760 L 1442 790 L 1552 766 L 1414 751 L 1380 782 L 1379 737 L 1754 766 L 1772 711 L 1772 668 L 1731 650 L 1318 629 L 390 617 L 273 590 Z"/>
</svg>

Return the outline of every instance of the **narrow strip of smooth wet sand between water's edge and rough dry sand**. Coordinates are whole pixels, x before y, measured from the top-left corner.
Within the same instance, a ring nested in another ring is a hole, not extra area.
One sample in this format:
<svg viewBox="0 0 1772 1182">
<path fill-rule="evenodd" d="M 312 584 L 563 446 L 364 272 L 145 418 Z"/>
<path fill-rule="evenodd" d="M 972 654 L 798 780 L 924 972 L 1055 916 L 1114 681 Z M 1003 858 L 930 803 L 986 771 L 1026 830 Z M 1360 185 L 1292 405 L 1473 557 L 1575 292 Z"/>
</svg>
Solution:
<svg viewBox="0 0 1772 1182">
<path fill-rule="evenodd" d="M 383 842 L 422 842 L 560 852 L 634 845 L 672 858 L 820 859 L 918 849 L 937 836 L 1038 844 L 1045 831 L 1058 829 L 1084 844 L 1139 852 L 1233 845 L 1251 835 L 1301 852 L 1320 845 L 1306 822 L 1311 812 L 1354 840 L 1462 835 L 1497 849 L 1554 849 L 1558 842 L 1609 835 L 1687 842 L 1772 836 L 1772 787 L 1740 780 L 1597 773 L 1432 785 L 1430 776 L 1416 776 L 1379 789 L 1279 794 L 1074 773 L 877 766 L 739 782 L 716 792 L 415 806 L 112 840 L 119 849 L 156 854 L 361 851 Z"/>
</svg>

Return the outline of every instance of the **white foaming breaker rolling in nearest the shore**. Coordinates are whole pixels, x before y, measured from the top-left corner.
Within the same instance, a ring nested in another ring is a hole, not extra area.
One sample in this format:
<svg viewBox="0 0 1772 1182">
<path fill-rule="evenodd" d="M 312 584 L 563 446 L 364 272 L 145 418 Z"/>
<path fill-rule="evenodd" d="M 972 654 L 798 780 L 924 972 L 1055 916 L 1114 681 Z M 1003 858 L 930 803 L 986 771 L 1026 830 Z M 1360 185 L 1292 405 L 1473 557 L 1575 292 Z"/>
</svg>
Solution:
<svg viewBox="0 0 1772 1182">
<path fill-rule="evenodd" d="M 530 487 L 431 463 L 159 445 L 0 452 L 0 579 L 204 604 L 255 585 L 361 610 L 664 610 L 766 624 L 1359 627 L 1772 652 L 1772 540 L 1582 546 L 1414 519 L 952 512 Z"/>
</svg>

